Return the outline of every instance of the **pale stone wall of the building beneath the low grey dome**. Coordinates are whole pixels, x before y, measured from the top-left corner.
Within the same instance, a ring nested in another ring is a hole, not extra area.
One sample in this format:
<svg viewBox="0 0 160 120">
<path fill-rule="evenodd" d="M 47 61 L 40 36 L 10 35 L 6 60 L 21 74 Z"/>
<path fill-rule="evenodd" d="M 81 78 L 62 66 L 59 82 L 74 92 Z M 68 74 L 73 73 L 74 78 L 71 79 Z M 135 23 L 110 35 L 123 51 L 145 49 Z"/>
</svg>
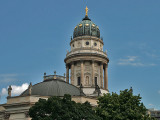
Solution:
<svg viewBox="0 0 160 120">
<path fill-rule="evenodd" d="M 29 117 L 29 108 L 33 106 L 40 98 L 48 99 L 50 96 L 17 96 L 7 99 L 7 103 L 0 105 L 0 120 L 31 120 Z M 78 103 L 90 102 L 91 105 L 97 105 L 96 97 L 73 96 L 72 100 Z"/>
</svg>

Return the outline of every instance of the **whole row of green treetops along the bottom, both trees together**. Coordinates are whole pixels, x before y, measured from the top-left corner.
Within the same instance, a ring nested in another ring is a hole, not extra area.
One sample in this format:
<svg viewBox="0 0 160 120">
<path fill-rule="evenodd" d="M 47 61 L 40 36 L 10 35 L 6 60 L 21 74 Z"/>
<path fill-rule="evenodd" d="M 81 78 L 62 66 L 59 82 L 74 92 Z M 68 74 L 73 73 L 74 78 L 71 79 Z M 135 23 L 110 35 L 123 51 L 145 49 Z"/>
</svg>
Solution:
<svg viewBox="0 0 160 120">
<path fill-rule="evenodd" d="M 93 109 L 89 102 L 76 103 L 70 95 L 39 99 L 29 110 L 32 120 L 155 120 L 147 115 L 140 95 L 126 89 L 98 98 Z"/>
</svg>

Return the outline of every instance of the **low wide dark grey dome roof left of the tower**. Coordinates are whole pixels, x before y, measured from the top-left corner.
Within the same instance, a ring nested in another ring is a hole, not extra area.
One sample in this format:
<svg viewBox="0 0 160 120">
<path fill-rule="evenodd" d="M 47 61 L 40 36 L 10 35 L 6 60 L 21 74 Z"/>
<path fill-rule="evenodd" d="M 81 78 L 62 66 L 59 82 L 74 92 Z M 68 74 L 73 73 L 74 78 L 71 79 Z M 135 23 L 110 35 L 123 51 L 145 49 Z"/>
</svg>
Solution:
<svg viewBox="0 0 160 120">
<path fill-rule="evenodd" d="M 32 86 L 31 95 L 40 96 L 64 96 L 70 94 L 71 96 L 85 95 L 79 88 L 63 80 L 54 79 L 47 80 Z M 25 90 L 20 96 L 29 95 L 29 89 Z"/>
</svg>

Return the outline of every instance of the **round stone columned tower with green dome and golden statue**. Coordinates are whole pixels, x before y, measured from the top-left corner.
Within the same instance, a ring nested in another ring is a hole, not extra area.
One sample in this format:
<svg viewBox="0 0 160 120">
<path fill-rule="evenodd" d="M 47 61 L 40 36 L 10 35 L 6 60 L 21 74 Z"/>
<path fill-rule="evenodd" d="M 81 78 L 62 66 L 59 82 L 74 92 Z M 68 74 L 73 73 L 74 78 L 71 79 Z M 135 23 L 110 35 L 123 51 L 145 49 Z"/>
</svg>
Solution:
<svg viewBox="0 0 160 120">
<path fill-rule="evenodd" d="M 108 93 L 107 53 L 103 52 L 103 39 L 99 27 L 88 17 L 88 8 L 82 21 L 75 26 L 71 51 L 67 52 L 66 82 L 77 87 L 83 86 L 83 92 L 92 96 L 95 89 Z M 70 73 L 69 73 L 70 71 Z"/>
</svg>

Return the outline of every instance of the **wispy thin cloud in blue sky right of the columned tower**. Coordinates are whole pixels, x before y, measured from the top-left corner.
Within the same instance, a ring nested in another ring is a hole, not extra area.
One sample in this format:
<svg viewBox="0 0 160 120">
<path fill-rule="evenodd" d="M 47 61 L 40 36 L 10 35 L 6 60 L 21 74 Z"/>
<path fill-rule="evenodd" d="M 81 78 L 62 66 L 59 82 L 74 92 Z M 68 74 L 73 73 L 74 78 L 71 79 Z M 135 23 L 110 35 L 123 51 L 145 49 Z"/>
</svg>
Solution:
<svg viewBox="0 0 160 120">
<path fill-rule="evenodd" d="M 143 67 L 143 66 L 156 66 L 156 64 L 154 63 L 150 63 L 150 64 L 144 64 L 140 61 L 139 57 L 138 56 L 127 56 L 126 58 L 123 58 L 123 59 L 119 59 L 118 60 L 118 65 L 129 65 L 129 66 L 140 66 L 140 67 Z"/>
</svg>

